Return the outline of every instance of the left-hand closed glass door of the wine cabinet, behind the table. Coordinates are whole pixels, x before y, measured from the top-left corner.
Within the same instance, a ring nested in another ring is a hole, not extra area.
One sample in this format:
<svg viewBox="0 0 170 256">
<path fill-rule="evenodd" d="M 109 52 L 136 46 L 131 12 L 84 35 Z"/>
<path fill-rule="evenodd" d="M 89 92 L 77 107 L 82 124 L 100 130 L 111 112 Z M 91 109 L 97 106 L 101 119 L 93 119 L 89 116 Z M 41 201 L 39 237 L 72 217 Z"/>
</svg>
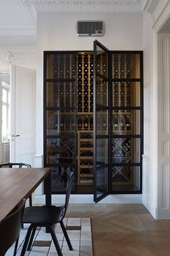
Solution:
<svg viewBox="0 0 170 256">
<path fill-rule="evenodd" d="M 44 64 L 44 166 L 52 168 L 55 194 L 76 170 L 76 54 L 47 51 Z"/>
</svg>

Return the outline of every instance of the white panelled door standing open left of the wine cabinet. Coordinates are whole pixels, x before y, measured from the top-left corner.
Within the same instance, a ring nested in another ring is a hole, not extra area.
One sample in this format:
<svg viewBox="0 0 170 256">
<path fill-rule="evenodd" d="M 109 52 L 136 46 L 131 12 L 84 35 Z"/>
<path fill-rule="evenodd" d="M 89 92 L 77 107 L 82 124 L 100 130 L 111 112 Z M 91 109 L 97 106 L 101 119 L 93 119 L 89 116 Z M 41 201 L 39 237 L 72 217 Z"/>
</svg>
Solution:
<svg viewBox="0 0 170 256">
<path fill-rule="evenodd" d="M 10 161 L 30 163 L 35 158 L 35 69 L 11 67 Z"/>
</svg>

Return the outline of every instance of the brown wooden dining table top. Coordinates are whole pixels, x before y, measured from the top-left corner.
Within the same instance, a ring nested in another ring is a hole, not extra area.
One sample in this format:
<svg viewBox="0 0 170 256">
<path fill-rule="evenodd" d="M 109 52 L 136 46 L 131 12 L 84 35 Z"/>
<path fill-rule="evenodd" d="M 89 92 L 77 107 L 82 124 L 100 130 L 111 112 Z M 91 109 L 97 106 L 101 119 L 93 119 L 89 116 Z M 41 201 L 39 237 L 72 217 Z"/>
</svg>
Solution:
<svg viewBox="0 0 170 256">
<path fill-rule="evenodd" d="M 50 171 L 50 168 L 0 168 L 0 221 L 31 195 Z"/>
</svg>

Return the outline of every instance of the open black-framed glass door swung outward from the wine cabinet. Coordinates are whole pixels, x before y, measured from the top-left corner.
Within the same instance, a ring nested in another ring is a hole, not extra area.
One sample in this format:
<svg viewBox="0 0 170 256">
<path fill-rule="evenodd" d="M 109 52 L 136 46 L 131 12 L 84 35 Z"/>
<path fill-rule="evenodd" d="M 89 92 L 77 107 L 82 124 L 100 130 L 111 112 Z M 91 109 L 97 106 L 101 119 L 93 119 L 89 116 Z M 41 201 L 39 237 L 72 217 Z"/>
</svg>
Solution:
<svg viewBox="0 0 170 256">
<path fill-rule="evenodd" d="M 109 192 L 109 50 L 94 41 L 94 202 Z"/>
</svg>

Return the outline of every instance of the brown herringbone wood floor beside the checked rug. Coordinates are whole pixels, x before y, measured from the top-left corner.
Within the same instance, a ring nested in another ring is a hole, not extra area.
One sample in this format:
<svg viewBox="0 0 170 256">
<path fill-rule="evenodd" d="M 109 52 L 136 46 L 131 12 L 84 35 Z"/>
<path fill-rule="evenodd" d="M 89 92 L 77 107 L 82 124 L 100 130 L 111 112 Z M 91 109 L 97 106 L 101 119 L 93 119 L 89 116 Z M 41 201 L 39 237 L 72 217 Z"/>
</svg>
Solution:
<svg viewBox="0 0 170 256">
<path fill-rule="evenodd" d="M 68 217 L 89 217 L 94 256 L 170 256 L 170 221 L 140 204 L 69 205 Z"/>
</svg>

